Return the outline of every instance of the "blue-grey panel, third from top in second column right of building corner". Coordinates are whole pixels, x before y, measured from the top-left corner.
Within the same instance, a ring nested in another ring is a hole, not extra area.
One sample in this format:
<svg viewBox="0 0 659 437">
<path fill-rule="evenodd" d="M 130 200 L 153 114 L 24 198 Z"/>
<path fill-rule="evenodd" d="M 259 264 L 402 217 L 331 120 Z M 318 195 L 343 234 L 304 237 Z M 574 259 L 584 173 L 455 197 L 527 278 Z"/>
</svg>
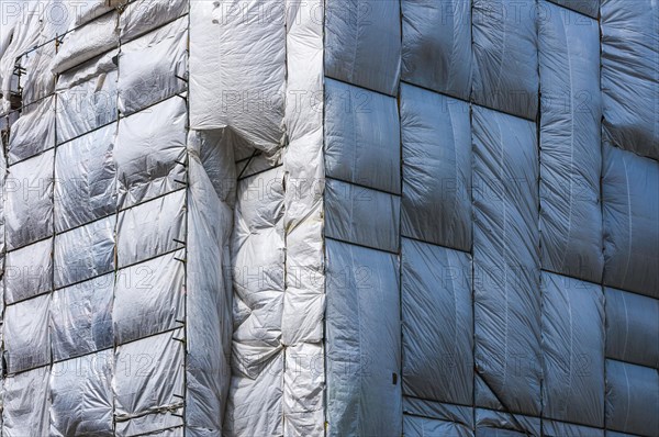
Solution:
<svg viewBox="0 0 659 437">
<path fill-rule="evenodd" d="M 401 257 L 404 393 L 471 404 L 470 256 L 403 238 Z"/>
</svg>

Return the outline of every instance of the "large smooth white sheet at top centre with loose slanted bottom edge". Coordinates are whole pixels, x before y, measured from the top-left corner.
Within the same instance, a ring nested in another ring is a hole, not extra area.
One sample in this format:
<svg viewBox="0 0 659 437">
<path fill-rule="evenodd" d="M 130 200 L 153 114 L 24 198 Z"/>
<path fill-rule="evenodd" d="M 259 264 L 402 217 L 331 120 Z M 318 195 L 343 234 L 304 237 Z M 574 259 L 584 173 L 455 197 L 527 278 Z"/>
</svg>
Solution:
<svg viewBox="0 0 659 437">
<path fill-rule="evenodd" d="M 277 154 L 284 136 L 284 9 L 258 0 L 191 2 L 191 128 L 231 128 L 267 156 Z"/>
</svg>

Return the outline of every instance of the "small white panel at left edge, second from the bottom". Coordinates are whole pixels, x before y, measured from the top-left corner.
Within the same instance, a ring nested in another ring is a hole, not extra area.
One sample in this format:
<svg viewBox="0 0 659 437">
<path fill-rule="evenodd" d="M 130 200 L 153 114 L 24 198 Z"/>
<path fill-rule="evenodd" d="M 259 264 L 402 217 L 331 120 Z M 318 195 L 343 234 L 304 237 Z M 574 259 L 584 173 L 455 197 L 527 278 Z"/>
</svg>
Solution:
<svg viewBox="0 0 659 437">
<path fill-rule="evenodd" d="M 3 352 L 9 373 L 51 362 L 49 303 L 51 296 L 45 294 L 4 309 Z"/>
</svg>

